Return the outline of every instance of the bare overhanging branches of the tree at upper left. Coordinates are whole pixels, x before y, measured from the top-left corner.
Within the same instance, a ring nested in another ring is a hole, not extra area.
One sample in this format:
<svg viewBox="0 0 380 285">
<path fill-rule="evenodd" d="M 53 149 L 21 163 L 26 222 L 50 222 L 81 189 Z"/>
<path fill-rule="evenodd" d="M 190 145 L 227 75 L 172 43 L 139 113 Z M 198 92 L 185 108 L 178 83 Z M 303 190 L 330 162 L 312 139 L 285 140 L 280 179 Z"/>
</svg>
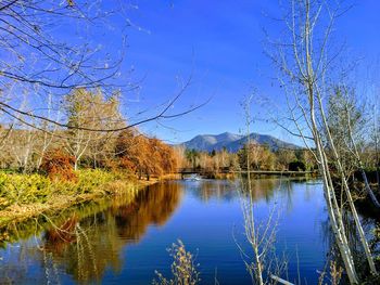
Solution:
<svg viewBox="0 0 380 285">
<path fill-rule="evenodd" d="M 114 132 L 152 120 L 182 116 L 200 107 L 190 106 L 183 112 L 170 113 L 170 106 L 178 102 L 190 85 L 189 78 L 180 91 L 163 104 L 161 111 L 118 128 L 69 126 L 64 116 L 60 119 L 49 116 L 45 103 L 50 94 L 54 103 L 59 103 L 75 89 L 101 89 L 110 96 L 116 90 L 125 94 L 138 87 L 130 80 L 129 72 L 121 72 L 126 50 L 126 27 L 135 27 L 129 20 L 134 9 L 129 1 L 114 1 L 107 5 L 101 0 L 1 1 L 2 115 L 39 130 L 43 130 L 41 126 L 45 121 L 60 128 Z M 117 23 L 117 26 L 113 23 Z M 68 37 L 67 31 L 71 33 Z M 104 44 L 93 40 L 99 35 L 112 34 L 117 35 L 119 42 L 109 41 Z M 117 47 L 116 52 L 109 52 L 110 46 Z M 28 109 L 16 107 L 15 96 L 21 92 L 29 95 L 33 104 Z"/>
</svg>

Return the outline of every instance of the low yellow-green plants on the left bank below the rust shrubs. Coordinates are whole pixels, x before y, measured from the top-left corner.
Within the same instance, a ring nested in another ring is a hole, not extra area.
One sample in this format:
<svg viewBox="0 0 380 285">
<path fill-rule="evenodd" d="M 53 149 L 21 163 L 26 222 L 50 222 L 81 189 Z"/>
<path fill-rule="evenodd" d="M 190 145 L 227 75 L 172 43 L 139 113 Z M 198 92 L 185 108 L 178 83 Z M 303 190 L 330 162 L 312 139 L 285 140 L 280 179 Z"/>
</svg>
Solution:
<svg viewBox="0 0 380 285">
<path fill-rule="evenodd" d="M 135 196 L 138 190 L 156 180 L 139 181 L 134 176 L 103 170 L 80 170 L 76 181 L 51 181 L 33 173 L 0 172 L 0 229 L 54 212 L 85 202 L 123 194 Z"/>
</svg>

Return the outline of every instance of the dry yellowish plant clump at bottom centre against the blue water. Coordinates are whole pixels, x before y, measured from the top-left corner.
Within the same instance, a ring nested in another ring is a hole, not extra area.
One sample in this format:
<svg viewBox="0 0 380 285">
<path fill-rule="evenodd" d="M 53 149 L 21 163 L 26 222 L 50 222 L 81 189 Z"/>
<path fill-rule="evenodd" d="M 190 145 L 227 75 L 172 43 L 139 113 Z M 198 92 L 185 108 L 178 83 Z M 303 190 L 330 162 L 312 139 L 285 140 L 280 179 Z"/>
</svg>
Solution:
<svg viewBox="0 0 380 285">
<path fill-rule="evenodd" d="M 157 280 L 153 280 L 153 285 L 195 285 L 201 281 L 200 272 L 197 269 L 199 264 L 194 264 L 193 255 L 186 250 L 180 239 L 177 243 L 167 249 L 173 257 L 172 278 L 167 280 L 162 273 L 155 271 Z"/>
</svg>

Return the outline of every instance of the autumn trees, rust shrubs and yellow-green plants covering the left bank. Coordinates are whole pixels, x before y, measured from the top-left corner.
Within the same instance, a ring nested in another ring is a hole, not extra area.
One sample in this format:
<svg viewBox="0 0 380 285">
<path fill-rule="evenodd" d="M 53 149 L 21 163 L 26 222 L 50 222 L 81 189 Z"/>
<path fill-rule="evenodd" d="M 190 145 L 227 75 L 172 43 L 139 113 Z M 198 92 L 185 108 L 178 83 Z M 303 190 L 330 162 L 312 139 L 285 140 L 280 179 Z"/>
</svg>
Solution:
<svg viewBox="0 0 380 285">
<path fill-rule="evenodd" d="M 76 89 L 64 104 L 67 126 L 74 129 L 49 131 L 16 125 L 0 129 L 0 223 L 128 192 L 144 184 L 139 181 L 175 172 L 175 150 L 136 128 L 121 132 L 81 129 L 91 124 L 123 125 L 115 98 L 105 100 L 100 92 Z"/>
</svg>

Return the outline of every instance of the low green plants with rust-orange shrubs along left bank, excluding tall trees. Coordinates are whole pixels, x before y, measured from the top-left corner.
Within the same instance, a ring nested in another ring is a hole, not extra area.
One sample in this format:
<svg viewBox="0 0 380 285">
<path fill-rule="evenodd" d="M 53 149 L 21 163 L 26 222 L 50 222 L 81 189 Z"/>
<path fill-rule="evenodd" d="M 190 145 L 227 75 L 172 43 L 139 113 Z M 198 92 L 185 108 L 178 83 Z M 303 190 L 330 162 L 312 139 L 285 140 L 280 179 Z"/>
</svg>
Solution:
<svg viewBox="0 0 380 285">
<path fill-rule="evenodd" d="M 119 138 L 123 140 L 117 141 L 117 151 L 137 146 L 135 143 L 127 146 L 122 135 Z M 7 168 L 7 171 L 0 171 L 0 226 L 11 220 L 35 217 L 47 210 L 60 210 L 101 196 L 134 195 L 138 187 L 173 172 L 176 158 L 169 146 L 141 134 L 138 140 L 144 141 L 147 147 L 154 147 L 151 148 L 152 153 L 119 152 L 103 167 L 99 163 L 96 169 L 81 166 L 75 170 L 72 156 L 53 150 L 46 153 L 39 170 L 28 168 L 26 172 Z M 154 177 L 152 181 L 151 177 Z"/>
</svg>

